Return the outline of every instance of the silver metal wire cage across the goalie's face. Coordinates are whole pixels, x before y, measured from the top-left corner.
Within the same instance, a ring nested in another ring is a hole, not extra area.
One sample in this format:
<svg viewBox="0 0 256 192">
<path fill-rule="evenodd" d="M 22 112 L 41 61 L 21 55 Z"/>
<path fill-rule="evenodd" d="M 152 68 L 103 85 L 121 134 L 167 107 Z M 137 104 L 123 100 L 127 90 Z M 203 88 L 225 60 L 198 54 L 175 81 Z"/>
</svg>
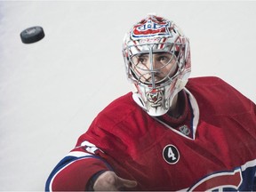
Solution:
<svg viewBox="0 0 256 192">
<path fill-rule="evenodd" d="M 144 48 L 142 51 L 140 51 L 140 47 Z M 146 47 L 146 49 L 145 49 Z M 159 49 L 158 47 L 162 47 L 162 49 Z M 135 84 L 143 84 L 144 86 L 148 86 L 151 89 L 156 89 L 157 87 L 163 87 L 166 84 L 171 84 L 173 79 L 175 79 L 181 71 L 184 69 L 185 66 L 185 53 L 184 53 L 184 44 L 172 44 L 172 43 L 155 43 L 155 44 L 140 44 L 140 45 L 131 45 L 128 48 L 124 50 L 124 52 L 128 52 L 128 57 L 126 59 L 126 73 L 130 80 L 132 80 Z M 156 49 L 154 49 L 156 48 Z M 158 49 L 157 49 L 158 48 Z M 133 50 L 133 51 L 132 51 Z M 137 51 L 136 53 L 133 53 Z M 172 54 L 172 59 L 169 60 L 167 63 L 163 64 L 160 68 L 154 68 L 153 66 L 153 54 L 154 53 L 170 53 Z M 131 53 L 131 54 L 129 54 Z M 150 68 L 140 68 L 138 64 L 134 64 L 132 62 L 132 57 L 140 54 L 149 54 L 149 60 L 150 60 Z M 175 63 L 172 61 L 175 60 Z M 163 74 L 161 72 L 161 69 L 167 68 L 168 65 L 173 65 L 172 68 L 162 77 L 161 79 L 156 79 L 157 75 Z M 174 68 L 174 70 L 173 70 Z M 176 68 L 176 69 L 175 69 Z M 136 72 L 136 69 L 140 69 L 140 71 L 143 71 L 145 73 L 142 73 L 138 75 L 138 70 Z M 142 77 L 144 76 L 150 76 L 151 82 L 142 81 Z"/>
</svg>

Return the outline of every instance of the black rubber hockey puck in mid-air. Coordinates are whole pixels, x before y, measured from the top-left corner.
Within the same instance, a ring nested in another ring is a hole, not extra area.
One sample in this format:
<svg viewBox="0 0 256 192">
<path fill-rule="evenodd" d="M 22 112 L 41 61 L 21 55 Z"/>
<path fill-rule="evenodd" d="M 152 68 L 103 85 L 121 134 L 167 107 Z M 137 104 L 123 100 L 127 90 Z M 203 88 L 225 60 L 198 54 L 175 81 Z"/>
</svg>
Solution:
<svg viewBox="0 0 256 192">
<path fill-rule="evenodd" d="M 24 44 L 32 44 L 44 38 L 44 29 L 36 26 L 27 28 L 20 33 L 20 38 Z"/>
</svg>

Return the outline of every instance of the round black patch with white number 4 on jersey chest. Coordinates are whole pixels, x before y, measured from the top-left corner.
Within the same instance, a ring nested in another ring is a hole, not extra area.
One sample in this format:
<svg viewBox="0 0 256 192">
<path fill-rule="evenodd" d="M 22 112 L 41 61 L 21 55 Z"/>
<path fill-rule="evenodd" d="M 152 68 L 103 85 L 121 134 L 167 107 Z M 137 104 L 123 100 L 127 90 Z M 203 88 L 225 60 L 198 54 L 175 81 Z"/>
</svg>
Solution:
<svg viewBox="0 0 256 192">
<path fill-rule="evenodd" d="M 165 146 L 163 149 L 163 157 L 168 164 L 176 164 L 180 159 L 178 148 L 173 145 Z"/>
</svg>

